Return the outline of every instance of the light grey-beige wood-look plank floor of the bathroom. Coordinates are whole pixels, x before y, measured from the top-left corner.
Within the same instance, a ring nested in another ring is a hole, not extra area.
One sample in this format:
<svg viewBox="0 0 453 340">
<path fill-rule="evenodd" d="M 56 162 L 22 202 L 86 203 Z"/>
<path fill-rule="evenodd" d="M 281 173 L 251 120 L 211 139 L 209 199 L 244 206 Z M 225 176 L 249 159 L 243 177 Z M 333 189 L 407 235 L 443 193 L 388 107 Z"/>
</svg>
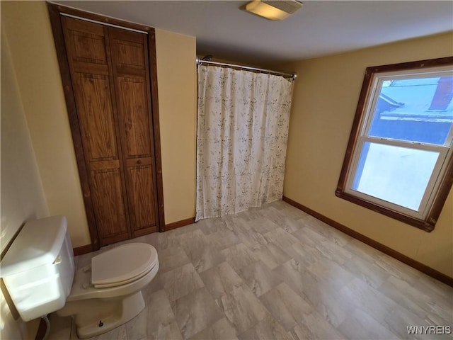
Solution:
<svg viewBox="0 0 453 340">
<path fill-rule="evenodd" d="M 96 339 L 453 339 L 407 329 L 453 327 L 453 288 L 282 201 L 127 242 L 161 267 L 145 309 Z M 77 339 L 50 320 L 50 340 Z"/>
</svg>

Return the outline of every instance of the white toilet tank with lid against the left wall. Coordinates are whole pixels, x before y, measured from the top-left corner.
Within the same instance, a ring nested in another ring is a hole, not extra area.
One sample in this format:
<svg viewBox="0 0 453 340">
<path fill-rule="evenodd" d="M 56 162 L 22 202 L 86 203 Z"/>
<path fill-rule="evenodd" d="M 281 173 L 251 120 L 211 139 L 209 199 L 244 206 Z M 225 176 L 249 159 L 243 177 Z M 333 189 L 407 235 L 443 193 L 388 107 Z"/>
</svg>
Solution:
<svg viewBox="0 0 453 340">
<path fill-rule="evenodd" d="M 66 217 L 25 223 L 0 264 L 1 278 L 23 321 L 64 307 L 74 279 Z"/>
</svg>

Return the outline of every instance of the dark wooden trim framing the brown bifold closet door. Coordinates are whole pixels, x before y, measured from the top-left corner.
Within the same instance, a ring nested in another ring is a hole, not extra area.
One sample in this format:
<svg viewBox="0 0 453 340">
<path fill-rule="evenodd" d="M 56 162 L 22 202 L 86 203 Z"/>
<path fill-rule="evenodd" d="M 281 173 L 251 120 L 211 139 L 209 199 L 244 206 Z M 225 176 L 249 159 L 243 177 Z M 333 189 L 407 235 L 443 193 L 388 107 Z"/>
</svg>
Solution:
<svg viewBox="0 0 453 340">
<path fill-rule="evenodd" d="M 164 215 L 164 187 L 162 181 L 162 163 L 161 163 L 161 139 L 159 130 L 159 96 L 157 91 L 157 67 L 156 67 L 156 37 L 154 28 L 149 26 L 140 25 L 137 23 L 130 23 L 116 18 L 109 18 L 95 13 L 88 13 L 80 11 L 75 8 L 61 6 L 47 2 L 47 9 L 49 11 L 50 23 L 52 26 L 52 33 L 55 40 L 55 49 L 57 51 L 57 60 L 59 70 L 62 77 L 62 85 L 64 91 L 64 98 L 67 105 L 69 125 L 71 128 L 72 142 L 74 144 L 74 151 L 76 154 L 77 169 L 79 171 L 79 178 L 81 183 L 81 190 L 84 196 L 84 205 L 86 211 L 86 219 L 88 222 L 88 229 L 91 238 L 91 246 L 93 251 L 100 248 L 100 240 L 98 237 L 98 230 L 96 228 L 96 219 L 94 215 L 94 207 L 91 196 L 91 190 L 88 183 L 88 169 L 85 164 L 84 148 L 81 142 L 81 131 L 79 127 L 79 119 L 77 118 L 76 101 L 74 98 L 74 90 L 71 82 L 71 74 L 69 70 L 69 63 L 67 59 L 67 51 L 64 45 L 64 35 L 62 29 L 62 22 L 60 20 L 60 13 L 67 13 L 72 16 L 80 18 L 87 18 L 90 20 L 98 21 L 99 23 L 110 23 L 116 26 L 125 28 L 132 28 L 134 30 L 142 30 L 147 32 L 148 41 L 148 55 L 149 55 L 149 79 L 151 86 L 151 108 L 154 132 L 154 154 L 156 162 L 156 190 L 157 190 L 157 205 L 158 216 L 157 225 L 160 232 L 165 231 L 165 215 Z"/>
</svg>

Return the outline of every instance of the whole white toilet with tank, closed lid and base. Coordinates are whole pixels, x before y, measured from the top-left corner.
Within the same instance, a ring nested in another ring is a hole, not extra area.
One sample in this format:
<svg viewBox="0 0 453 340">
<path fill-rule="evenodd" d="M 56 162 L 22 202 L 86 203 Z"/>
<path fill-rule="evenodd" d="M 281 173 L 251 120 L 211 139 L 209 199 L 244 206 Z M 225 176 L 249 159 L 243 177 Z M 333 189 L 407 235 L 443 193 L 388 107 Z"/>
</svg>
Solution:
<svg viewBox="0 0 453 340">
<path fill-rule="evenodd" d="M 129 243 L 74 270 L 67 219 L 27 222 L 1 261 L 1 277 L 24 321 L 71 316 L 81 339 L 110 331 L 144 309 L 142 289 L 159 271 L 154 246 Z"/>
</svg>

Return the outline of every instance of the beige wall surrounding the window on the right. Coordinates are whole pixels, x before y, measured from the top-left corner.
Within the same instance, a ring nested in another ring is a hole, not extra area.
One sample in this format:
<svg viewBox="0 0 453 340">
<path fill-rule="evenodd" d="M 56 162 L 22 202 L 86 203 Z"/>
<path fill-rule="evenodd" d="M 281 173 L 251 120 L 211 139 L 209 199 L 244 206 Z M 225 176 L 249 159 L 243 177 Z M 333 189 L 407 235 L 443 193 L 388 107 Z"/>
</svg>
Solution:
<svg viewBox="0 0 453 340">
<path fill-rule="evenodd" d="M 335 196 L 367 67 L 447 57 L 453 33 L 281 65 L 294 86 L 284 195 L 453 277 L 453 192 L 424 232 Z"/>
</svg>

